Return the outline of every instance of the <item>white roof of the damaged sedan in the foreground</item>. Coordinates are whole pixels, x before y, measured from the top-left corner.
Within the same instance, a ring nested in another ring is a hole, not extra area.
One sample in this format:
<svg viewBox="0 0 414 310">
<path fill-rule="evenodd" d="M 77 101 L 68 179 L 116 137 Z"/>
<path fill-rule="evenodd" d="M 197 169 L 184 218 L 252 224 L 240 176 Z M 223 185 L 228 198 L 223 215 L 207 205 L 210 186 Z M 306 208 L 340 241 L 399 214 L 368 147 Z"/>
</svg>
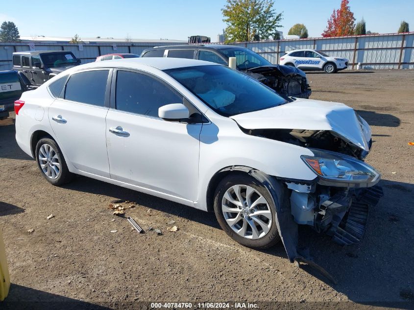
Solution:
<svg viewBox="0 0 414 310">
<path fill-rule="evenodd" d="M 131 68 L 131 69 L 143 69 L 143 67 L 153 67 L 158 70 L 168 70 L 168 69 L 175 69 L 175 68 L 195 67 L 195 66 L 220 66 L 220 65 L 209 62 L 209 61 L 187 59 L 187 58 L 143 57 L 143 58 L 123 58 L 123 59 L 97 61 L 97 62 L 91 62 L 88 64 L 76 66 L 75 68 L 76 70 L 79 70 L 79 69 L 90 69 L 90 68 L 101 68 L 101 67 Z"/>
</svg>

